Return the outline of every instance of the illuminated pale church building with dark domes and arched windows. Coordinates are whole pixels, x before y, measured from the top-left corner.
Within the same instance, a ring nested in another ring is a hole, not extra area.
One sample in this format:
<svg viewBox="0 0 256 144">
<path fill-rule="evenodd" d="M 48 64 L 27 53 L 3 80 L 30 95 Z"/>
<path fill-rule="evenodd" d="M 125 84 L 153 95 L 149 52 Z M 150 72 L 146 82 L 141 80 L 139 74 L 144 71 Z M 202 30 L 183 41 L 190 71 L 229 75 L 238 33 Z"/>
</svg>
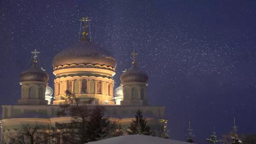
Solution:
<svg viewBox="0 0 256 144">
<path fill-rule="evenodd" d="M 121 86 L 114 97 L 116 60 L 114 57 L 90 40 L 81 40 L 79 44 L 68 47 L 53 59 L 55 74 L 54 90 L 49 88 L 49 75 L 37 66 L 37 54 L 34 63 L 20 74 L 21 97 L 18 105 L 2 105 L 1 139 L 9 142 L 9 137 L 18 133 L 22 125 L 39 125 L 51 129 L 55 123 L 71 122 L 72 117 L 57 117 L 59 105 L 63 102 L 65 91 L 69 90 L 79 99 L 93 98 L 91 105 L 106 108 L 106 115 L 115 121 L 120 130 L 126 130 L 138 109 L 146 117 L 156 136 L 162 136 L 165 130 L 165 108 L 148 106 L 148 76 L 132 61 L 131 68 L 122 73 Z M 135 54 L 133 54 L 135 55 Z M 50 95 L 54 91 L 54 100 Z"/>
</svg>

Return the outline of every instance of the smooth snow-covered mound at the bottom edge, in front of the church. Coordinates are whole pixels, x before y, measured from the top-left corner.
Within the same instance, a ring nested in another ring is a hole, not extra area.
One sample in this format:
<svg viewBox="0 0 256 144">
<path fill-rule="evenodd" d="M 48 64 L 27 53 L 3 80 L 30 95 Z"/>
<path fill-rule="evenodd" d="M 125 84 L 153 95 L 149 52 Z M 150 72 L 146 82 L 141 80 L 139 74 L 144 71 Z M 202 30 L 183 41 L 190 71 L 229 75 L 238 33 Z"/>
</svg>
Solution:
<svg viewBox="0 0 256 144">
<path fill-rule="evenodd" d="M 88 144 L 191 144 L 183 141 L 165 139 L 148 135 L 122 135 Z"/>
</svg>

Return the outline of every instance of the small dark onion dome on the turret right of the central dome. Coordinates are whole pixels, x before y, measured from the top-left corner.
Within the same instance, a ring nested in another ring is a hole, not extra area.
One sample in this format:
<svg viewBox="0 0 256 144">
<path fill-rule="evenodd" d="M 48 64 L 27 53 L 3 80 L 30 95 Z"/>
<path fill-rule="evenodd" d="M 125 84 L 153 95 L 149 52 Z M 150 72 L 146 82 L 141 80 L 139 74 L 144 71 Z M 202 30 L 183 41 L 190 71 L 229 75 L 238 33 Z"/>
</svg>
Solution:
<svg viewBox="0 0 256 144">
<path fill-rule="evenodd" d="M 142 72 L 141 70 L 139 70 L 136 64 L 134 63 L 128 71 L 124 72 L 120 76 L 120 80 L 122 83 L 126 83 L 126 82 L 145 82 L 146 83 L 148 80 L 148 76 L 146 72 Z"/>
</svg>

